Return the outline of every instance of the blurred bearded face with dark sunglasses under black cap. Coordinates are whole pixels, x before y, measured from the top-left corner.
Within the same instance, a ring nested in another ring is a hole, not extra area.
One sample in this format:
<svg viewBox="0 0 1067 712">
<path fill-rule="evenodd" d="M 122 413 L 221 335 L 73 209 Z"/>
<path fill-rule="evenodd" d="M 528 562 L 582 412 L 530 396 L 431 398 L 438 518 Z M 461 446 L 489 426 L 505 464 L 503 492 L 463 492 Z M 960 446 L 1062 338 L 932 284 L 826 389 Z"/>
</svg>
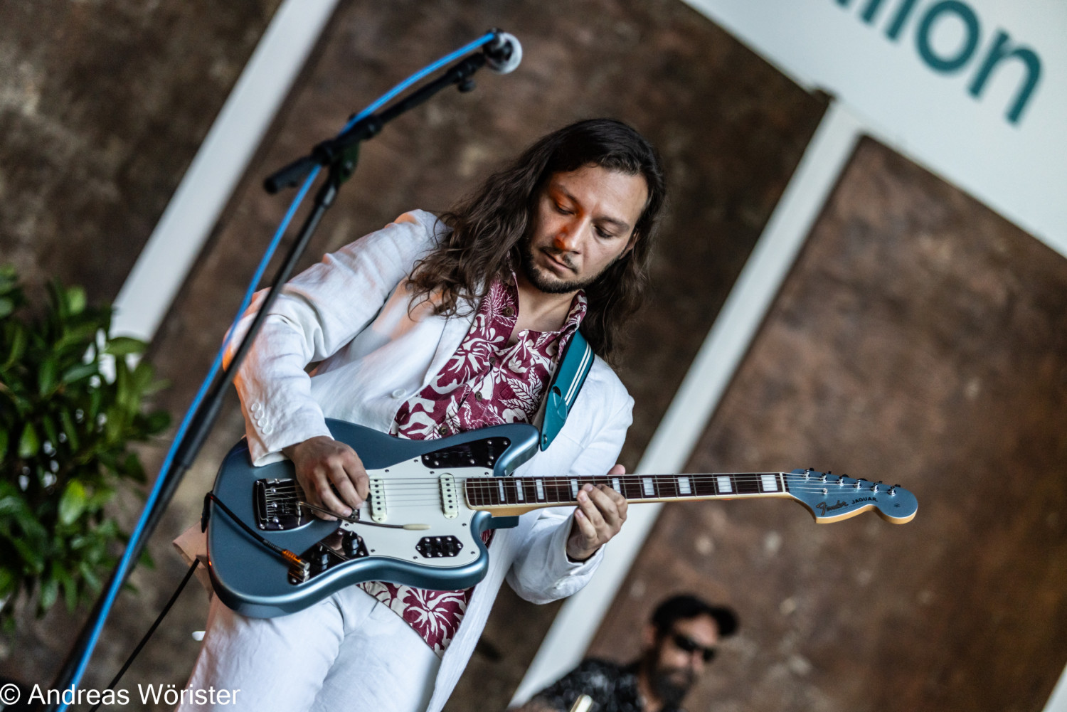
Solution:
<svg viewBox="0 0 1067 712">
<path fill-rule="evenodd" d="M 706 651 L 719 642 L 711 616 L 675 620 L 649 651 L 649 684 L 665 703 L 678 705 L 704 671 Z"/>
</svg>

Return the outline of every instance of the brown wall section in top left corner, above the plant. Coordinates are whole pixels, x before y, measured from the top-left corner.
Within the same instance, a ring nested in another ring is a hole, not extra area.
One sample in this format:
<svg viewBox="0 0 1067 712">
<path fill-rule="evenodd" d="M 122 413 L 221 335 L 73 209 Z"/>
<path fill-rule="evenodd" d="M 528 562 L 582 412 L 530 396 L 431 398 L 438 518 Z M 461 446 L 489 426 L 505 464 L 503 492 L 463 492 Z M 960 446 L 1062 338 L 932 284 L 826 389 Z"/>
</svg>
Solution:
<svg viewBox="0 0 1067 712">
<path fill-rule="evenodd" d="M 0 3 L 0 263 L 113 300 L 278 2 Z"/>
</svg>

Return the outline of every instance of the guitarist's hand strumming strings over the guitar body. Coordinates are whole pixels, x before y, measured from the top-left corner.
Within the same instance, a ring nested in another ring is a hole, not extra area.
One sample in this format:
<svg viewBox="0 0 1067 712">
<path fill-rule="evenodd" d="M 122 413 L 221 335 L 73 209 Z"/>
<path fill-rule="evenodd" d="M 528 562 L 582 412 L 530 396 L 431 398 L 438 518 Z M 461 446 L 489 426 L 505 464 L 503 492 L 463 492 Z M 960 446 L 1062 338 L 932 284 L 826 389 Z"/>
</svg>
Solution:
<svg viewBox="0 0 1067 712">
<path fill-rule="evenodd" d="M 370 493 L 370 478 L 363 461 L 343 442 L 316 436 L 289 445 L 282 454 L 292 460 L 297 481 L 313 505 L 350 517 Z M 315 513 L 322 519 L 334 519 L 323 512 Z"/>
</svg>

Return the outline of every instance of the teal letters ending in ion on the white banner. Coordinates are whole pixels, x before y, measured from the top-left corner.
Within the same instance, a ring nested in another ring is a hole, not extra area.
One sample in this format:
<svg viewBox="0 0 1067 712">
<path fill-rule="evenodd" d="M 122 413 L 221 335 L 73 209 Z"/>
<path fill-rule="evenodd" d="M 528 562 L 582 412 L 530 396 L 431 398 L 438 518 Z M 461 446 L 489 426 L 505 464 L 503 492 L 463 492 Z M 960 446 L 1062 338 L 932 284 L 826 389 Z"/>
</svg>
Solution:
<svg viewBox="0 0 1067 712">
<path fill-rule="evenodd" d="M 841 7 L 850 7 L 853 0 L 834 0 Z M 866 25 L 876 25 L 878 15 L 886 4 L 885 0 L 866 0 L 858 13 Z M 886 25 L 886 38 L 898 43 L 905 30 L 911 23 L 912 15 L 920 0 L 898 0 L 895 12 L 890 13 Z M 934 47 L 933 34 L 941 22 L 956 21 L 964 31 L 962 42 L 952 51 Z M 993 34 L 985 57 L 974 62 L 978 47 L 982 46 L 982 20 L 978 14 L 964 0 L 938 0 L 933 2 L 922 13 L 914 30 L 914 47 L 920 59 L 927 67 L 938 74 L 955 74 L 965 69 L 973 69 L 974 74 L 967 85 L 967 92 L 976 100 L 981 100 L 986 86 L 1001 74 L 997 69 L 1009 60 L 1021 63 L 1023 67 L 1019 88 L 1005 111 L 1009 124 L 1018 124 L 1023 112 L 1035 96 L 1038 80 L 1041 76 L 1041 59 L 1037 52 L 1021 44 L 1012 42 L 1007 32 L 998 29 Z"/>
</svg>

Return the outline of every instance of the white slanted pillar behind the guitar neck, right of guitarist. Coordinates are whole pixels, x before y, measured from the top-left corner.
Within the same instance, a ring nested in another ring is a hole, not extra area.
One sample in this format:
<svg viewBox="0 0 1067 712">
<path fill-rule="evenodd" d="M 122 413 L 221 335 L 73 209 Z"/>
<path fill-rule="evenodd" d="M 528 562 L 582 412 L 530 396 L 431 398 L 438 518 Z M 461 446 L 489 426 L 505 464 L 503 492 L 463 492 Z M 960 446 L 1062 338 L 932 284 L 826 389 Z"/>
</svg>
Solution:
<svg viewBox="0 0 1067 712">
<path fill-rule="evenodd" d="M 863 130 L 833 102 L 827 109 L 781 201 L 730 291 L 685 380 L 637 465 L 638 473 L 679 472 L 689 459 L 748 351 L 815 219 Z M 638 505 L 608 544 L 596 575 L 563 604 L 511 705 L 520 705 L 582 660 L 648 536 L 659 505 Z"/>
</svg>

